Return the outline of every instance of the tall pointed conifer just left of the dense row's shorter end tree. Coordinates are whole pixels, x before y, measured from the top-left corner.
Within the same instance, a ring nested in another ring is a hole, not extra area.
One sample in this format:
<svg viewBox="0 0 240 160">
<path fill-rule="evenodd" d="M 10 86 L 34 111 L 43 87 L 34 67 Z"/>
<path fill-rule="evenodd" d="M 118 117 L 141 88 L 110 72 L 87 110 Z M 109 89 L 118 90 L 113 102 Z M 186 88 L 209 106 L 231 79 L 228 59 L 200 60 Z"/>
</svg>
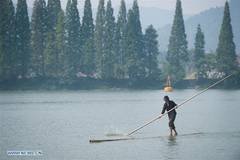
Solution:
<svg viewBox="0 0 240 160">
<path fill-rule="evenodd" d="M 139 7 L 137 1 L 133 3 L 132 9 L 128 12 L 127 23 L 127 68 L 131 80 L 144 79 L 145 73 L 145 53 L 143 34 L 140 22 Z"/>
</svg>

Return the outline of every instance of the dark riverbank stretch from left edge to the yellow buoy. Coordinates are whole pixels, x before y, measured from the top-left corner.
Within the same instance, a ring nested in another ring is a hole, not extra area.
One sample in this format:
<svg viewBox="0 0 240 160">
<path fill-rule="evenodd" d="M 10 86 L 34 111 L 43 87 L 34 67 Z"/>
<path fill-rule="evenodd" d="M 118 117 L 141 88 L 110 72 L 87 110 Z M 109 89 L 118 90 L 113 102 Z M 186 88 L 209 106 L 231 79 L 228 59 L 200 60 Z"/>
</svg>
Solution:
<svg viewBox="0 0 240 160">
<path fill-rule="evenodd" d="M 57 79 L 19 79 L 0 82 L 0 90 L 91 90 L 91 89 L 160 89 L 162 81 L 99 80 L 82 78 L 71 82 Z"/>
</svg>

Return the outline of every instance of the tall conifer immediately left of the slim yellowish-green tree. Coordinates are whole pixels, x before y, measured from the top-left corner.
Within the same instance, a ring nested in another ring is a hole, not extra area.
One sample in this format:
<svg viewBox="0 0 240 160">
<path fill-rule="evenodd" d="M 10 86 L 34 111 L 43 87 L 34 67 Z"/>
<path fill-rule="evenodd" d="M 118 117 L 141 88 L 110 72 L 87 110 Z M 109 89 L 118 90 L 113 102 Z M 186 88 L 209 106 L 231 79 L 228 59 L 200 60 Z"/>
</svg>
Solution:
<svg viewBox="0 0 240 160">
<path fill-rule="evenodd" d="M 61 12 L 60 0 L 48 0 L 47 4 L 47 41 L 44 50 L 45 75 L 49 78 L 57 78 L 59 71 L 59 55 L 56 45 L 56 25 L 59 12 Z"/>
</svg>

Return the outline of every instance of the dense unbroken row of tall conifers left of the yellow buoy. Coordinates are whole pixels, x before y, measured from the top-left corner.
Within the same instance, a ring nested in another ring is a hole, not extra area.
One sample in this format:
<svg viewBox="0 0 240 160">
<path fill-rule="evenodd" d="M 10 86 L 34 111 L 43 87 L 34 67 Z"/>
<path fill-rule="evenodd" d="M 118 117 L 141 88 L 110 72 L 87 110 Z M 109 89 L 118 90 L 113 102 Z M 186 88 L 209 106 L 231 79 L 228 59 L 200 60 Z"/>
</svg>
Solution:
<svg viewBox="0 0 240 160">
<path fill-rule="evenodd" d="M 79 77 L 159 79 L 157 32 L 142 32 L 137 0 L 127 11 L 121 1 L 114 17 L 111 0 L 99 1 L 93 21 L 90 0 L 83 17 L 77 0 L 35 0 L 29 21 L 26 0 L 1 1 L 1 79 L 46 77 L 64 81 Z"/>
</svg>

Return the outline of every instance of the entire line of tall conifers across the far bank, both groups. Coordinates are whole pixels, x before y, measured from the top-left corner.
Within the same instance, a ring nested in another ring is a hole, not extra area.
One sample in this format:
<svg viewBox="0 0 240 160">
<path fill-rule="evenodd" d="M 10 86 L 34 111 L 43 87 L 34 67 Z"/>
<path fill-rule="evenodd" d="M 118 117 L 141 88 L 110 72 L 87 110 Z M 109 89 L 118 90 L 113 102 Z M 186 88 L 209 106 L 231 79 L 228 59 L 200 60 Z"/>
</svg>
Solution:
<svg viewBox="0 0 240 160">
<path fill-rule="evenodd" d="M 0 1 L 1 79 L 44 77 L 73 82 L 80 77 L 103 80 L 158 80 L 160 78 L 157 32 L 150 25 L 143 33 L 137 0 L 127 11 L 125 1 L 114 16 L 111 0 L 99 0 L 93 20 L 90 0 L 80 17 L 77 0 L 68 0 L 63 11 L 60 0 L 35 0 L 31 21 L 26 0 Z M 189 61 L 197 78 L 230 74 L 238 70 L 226 2 L 216 54 L 205 53 L 204 33 L 199 25 L 191 55 L 180 0 L 176 0 L 164 73 L 182 80 Z"/>
</svg>

